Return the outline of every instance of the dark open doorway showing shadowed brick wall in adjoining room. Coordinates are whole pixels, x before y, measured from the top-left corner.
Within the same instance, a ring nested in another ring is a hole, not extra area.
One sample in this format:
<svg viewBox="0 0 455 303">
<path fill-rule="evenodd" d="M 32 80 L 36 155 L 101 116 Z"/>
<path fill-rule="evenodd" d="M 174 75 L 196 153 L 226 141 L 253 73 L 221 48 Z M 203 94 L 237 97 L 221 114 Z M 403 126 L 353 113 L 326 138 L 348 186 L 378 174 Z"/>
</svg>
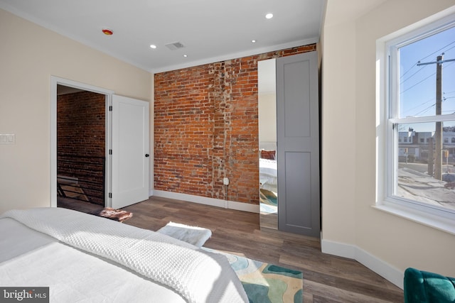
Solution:
<svg viewBox="0 0 455 303">
<path fill-rule="evenodd" d="M 57 206 L 105 206 L 106 95 L 57 85 Z"/>
</svg>

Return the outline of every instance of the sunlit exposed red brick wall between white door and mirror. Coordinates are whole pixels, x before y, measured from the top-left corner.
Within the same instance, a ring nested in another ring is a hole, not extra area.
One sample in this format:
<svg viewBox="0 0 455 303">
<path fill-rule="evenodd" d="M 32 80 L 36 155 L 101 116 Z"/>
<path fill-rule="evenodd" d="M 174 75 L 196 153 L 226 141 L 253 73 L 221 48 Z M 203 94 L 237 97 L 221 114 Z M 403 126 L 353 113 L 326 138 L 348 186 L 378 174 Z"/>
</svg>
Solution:
<svg viewBox="0 0 455 303">
<path fill-rule="evenodd" d="M 305 45 L 156 74 L 154 189 L 259 204 L 257 62 L 314 50 Z"/>
</svg>

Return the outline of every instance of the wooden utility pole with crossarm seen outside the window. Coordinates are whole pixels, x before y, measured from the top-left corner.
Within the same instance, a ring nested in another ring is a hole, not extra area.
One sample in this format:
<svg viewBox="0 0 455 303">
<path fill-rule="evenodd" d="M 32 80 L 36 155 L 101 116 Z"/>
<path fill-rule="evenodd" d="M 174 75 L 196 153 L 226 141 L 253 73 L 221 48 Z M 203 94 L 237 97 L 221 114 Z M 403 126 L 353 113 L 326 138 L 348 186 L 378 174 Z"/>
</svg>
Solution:
<svg viewBox="0 0 455 303">
<path fill-rule="evenodd" d="M 441 104 L 442 104 L 442 64 L 444 62 L 455 61 L 455 59 L 451 60 L 443 60 L 444 53 L 438 56 L 435 62 L 427 62 L 427 63 L 417 63 L 417 66 L 420 65 L 429 65 L 429 64 L 436 64 L 436 115 L 441 115 Z M 434 159 L 434 178 L 437 180 L 442 180 L 442 122 L 436 122 L 436 129 L 434 130 L 434 141 L 435 141 L 435 159 Z M 428 165 L 429 167 L 430 165 Z M 431 172 L 429 172 L 431 175 Z"/>
</svg>

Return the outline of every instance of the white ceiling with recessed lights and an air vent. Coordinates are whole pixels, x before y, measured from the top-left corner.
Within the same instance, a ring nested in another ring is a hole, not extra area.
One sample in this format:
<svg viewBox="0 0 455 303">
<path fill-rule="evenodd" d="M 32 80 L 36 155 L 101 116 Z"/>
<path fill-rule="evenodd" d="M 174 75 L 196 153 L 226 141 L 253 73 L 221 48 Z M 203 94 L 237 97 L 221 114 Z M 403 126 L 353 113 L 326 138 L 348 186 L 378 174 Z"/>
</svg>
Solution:
<svg viewBox="0 0 455 303">
<path fill-rule="evenodd" d="M 0 0 L 0 8 L 144 70 L 163 72 L 316 43 L 325 3 Z M 265 14 L 270 12 L 274 18 L 266 19 Z M 114 34 L 104 35 L 102 28 L 112 29 Z M 166 44 L 175 42 L 184 48 L 166 48 Z M 157 48 L 152 50 L 151 44 Z"/>
</svg>

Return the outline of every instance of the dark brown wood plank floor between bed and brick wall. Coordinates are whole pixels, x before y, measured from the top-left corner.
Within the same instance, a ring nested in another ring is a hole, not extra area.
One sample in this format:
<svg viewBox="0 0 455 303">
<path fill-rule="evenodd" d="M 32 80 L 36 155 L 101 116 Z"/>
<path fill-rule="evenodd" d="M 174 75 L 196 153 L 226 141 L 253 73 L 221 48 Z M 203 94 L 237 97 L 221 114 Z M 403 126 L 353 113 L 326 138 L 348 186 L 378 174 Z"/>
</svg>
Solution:
<svg viewBox="0 0 455 303">
<path fill-rule="evenodd" d="M 169 221 L 210 228 L 213 234 L 205 247 L 301 270 L 304 302 L 404 301 L 399 287 L 357 261 L 321 253 L 319 239 L 261 230 L 259 214 L 160 197 L 124 210 L 134 214 L 124 224 L 152 231 Z"/>
</svg>

